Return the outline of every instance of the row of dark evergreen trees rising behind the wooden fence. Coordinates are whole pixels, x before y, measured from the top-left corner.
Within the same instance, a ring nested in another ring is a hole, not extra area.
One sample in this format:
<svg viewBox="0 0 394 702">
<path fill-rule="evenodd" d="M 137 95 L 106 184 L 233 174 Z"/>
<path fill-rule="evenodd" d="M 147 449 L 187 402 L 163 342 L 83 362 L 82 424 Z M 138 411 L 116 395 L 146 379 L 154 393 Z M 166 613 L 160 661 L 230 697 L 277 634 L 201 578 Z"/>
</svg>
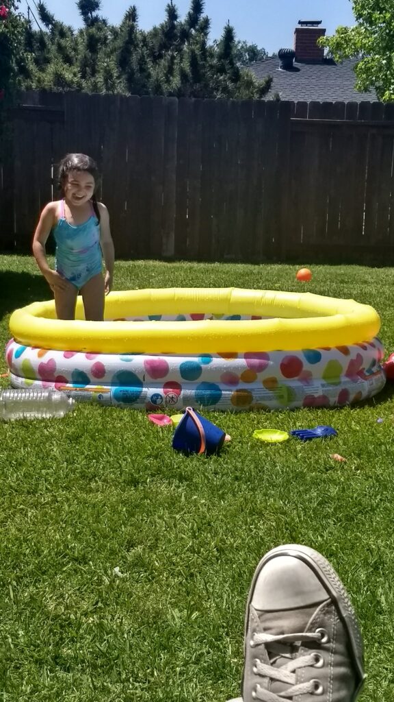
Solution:
<svg viewBox="0 0 394 702">
<path fill-rule="evenodd" d="M 204 0 L 191 0 L 184 19 L 170 0 L 163 22 L 148 32 L 140 29 L 134 5 L 118 26 L 102 18 L 100 0 L 77 0 L 76 6 L 83 19 L 78 31 L 40 0 L 44 29 L 25 29 L 25 87 L 196 98 L 258 98 L 269 88 L 269 81 L 241 68 L 257 53 L 236 39 L 231 25 L 210 43 Z"/>
</svg>

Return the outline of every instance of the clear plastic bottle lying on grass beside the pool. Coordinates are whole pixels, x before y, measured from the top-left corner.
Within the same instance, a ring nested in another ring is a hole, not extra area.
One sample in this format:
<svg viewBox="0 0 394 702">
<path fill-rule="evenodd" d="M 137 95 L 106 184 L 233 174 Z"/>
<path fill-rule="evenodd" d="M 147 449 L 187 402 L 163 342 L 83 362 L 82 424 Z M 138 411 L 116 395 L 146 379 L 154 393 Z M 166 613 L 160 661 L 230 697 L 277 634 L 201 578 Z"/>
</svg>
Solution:
<svg viewBox="0 0 394 702">
<path fill-rule="evenodd" d="M 58 390 L 3 390 L 0 419 L 64 417 L 74 409 L 74 400 Z"/>
</svg>

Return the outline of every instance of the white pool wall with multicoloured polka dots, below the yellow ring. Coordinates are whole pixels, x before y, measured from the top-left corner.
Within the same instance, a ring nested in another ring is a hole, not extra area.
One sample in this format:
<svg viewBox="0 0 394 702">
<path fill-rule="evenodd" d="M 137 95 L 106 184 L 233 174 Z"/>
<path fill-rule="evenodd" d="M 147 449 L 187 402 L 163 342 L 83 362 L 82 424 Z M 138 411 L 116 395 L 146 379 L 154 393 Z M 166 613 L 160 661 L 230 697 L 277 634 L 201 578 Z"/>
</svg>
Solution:
<svg viewBox="0 0 394 702">
<path fill-rule="evenodd" d="M 15 388 L 57 388 L 81 401 L 137 409 L 340 406 L 385 384 L 379 339 L 351 346 L 192 355 L 91 354 L 22 346 L 6 361 Z"/>
</svg>

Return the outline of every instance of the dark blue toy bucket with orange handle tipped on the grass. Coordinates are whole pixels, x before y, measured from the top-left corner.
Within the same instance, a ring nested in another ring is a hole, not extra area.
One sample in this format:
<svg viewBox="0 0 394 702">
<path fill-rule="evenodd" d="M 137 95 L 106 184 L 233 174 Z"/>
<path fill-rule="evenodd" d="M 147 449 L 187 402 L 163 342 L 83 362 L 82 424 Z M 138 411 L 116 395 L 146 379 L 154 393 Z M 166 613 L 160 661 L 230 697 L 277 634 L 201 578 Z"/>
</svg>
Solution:
<svg viewBox="0 0 394 702">
<path fill-rule="evenodd" d="M 186 407 L 172 439 L 172 448 L 184 453 L 216 453 L 222 448 L 226 433 L 192 407 Z"/>
</svg>

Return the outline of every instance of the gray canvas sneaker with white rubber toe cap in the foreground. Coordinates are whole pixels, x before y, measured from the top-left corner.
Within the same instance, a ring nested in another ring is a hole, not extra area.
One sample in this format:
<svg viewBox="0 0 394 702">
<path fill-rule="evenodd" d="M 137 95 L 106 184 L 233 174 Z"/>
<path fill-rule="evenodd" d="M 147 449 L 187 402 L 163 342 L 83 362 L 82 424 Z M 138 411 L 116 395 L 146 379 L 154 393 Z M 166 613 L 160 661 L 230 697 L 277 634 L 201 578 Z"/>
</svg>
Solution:
<svg viewBox="0 0 394 702">
<path fill-rule="evenodd" d="M 357 619 L 330 563 L 306 546 L 269 551 L 247 601 L 238 700 L 355 702 L 362 658 Z"/>
</svg>

